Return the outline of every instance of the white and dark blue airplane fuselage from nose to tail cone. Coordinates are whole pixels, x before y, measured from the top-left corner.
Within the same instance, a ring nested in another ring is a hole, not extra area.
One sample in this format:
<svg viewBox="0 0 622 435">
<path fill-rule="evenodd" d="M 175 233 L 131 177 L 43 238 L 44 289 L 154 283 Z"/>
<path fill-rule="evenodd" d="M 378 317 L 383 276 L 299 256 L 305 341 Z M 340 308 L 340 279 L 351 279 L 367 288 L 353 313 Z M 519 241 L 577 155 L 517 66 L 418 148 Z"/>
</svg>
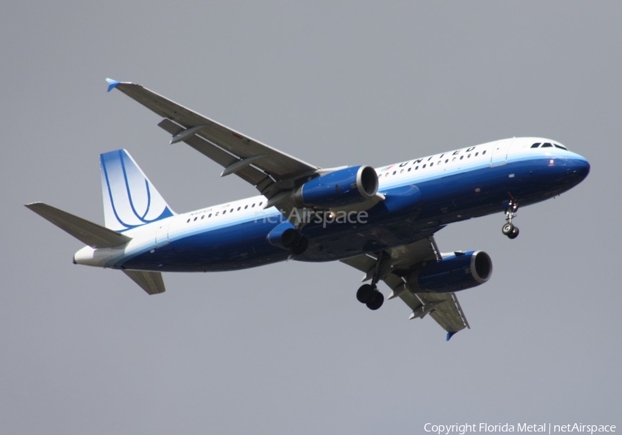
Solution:
<svg viewBox="0 0 622 435">
<path fill-rule="evenodd" d="M 550 147 L 532 148 L 534 143 Z M 364 212 L 310 214 L 301 261 L 332 261 L 402 246 L 452 222 L 502 212 L 511 199 L 521 207 L 580 183 L 587 160 L 558 142 L 513 138 L 417 158 L 376 169 L 384 201 Z M 178 214 L 127 230 L 122 248 L 85 247 L 75 263 L 161 272 L 236 270 L 288 259 L 267 242 L 285 221 L 276 207 L 254 196 Z M 301 211 L 303 213 L 303 211 Z M 321 217 L 320 217 L 321 216 Z M 332 220 L 331 220 L 332 219 Z"/>
</svg>

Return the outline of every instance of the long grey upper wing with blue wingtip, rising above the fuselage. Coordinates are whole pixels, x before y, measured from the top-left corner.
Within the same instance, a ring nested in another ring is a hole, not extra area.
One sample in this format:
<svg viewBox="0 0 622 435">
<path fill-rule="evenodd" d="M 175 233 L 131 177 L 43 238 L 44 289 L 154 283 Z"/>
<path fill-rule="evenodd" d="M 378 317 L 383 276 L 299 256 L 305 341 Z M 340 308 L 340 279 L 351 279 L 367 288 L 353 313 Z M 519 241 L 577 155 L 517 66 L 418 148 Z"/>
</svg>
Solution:
<svg viewBox="0 0 622 435">
<path fill-rule="evenodd" d="M 140 84 L 107 81 L 108 91 L 118 89 L 164 117 L 158 125 L 171 133 L 171 143 L 185 142 L 222 165 L 220 176 L 236 174 L 251 183 L 268 198 L 267 206 L 287 202 L 289 195 L 285 192 L 289 193 L 296 181 L 319 174 L 319 167 L 205 118 Z"/>
</svg>

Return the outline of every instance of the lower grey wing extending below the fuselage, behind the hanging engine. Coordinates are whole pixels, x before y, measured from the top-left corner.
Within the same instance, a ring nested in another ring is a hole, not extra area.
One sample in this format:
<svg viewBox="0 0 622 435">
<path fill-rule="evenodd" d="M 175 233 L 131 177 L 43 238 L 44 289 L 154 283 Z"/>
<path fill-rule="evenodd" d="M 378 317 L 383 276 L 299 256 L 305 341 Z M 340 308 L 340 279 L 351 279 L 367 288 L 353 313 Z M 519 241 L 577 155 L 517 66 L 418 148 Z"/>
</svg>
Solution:
<svg viewBox="0 0 622 435">
<path fill-rule="evenodd" d="M 400 297 L 413 310 L 411 319 L 431 315 L 447 331 L 449 340 L 453 334 L 470 327 L 455 293 L 413 293 L 404 279 L 424 261 L 437 261 L 439 258 L 436 242 L 430 236 L 374 255 L 364 254 L 341 261 L 365 272 L 363 281 L 377 275 L 393 290 L 388 299 Z"/>
</svg>

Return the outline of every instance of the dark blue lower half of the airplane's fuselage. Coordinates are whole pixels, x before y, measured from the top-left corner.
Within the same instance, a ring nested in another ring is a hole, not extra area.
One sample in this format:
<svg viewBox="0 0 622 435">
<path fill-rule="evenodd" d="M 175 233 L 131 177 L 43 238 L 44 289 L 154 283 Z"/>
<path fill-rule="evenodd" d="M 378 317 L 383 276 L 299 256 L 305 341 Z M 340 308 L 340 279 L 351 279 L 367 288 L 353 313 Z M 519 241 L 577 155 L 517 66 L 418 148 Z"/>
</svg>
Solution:
<svg viewBox="0 0 622 435">
<path fill-rule="evenodd" d="M 552 198 L 587 175 L 584 160 L 538 156 L 481 167 L 413 184 L 380 188 L 386 199 L 368 210 L 366 223 L 309 223 L 301 261 L 331 261 L 404 245 L 433 234 L 448 223 L 501 212 L 511 198 L 525 206 Z M 415 187 L 416 186 L 416 187 Z M 275 216 L 276 217 L 276 216 Z M 288 250 L 266 236 L 276 220 L 250 219 L 173 240 L 117 264 L 118 268 L 177 271 L 236 270 L 283 261 Z"/>
</svg>

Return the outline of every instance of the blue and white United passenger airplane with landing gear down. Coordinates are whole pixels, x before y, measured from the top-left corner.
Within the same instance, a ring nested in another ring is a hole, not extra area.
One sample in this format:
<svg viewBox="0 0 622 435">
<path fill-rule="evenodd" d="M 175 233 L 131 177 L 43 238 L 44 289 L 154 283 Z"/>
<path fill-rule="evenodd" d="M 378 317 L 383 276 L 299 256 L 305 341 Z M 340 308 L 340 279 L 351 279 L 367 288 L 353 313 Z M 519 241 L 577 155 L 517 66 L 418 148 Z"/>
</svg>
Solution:
<svg viewBox="0 0 622 435">
<path fill-rule="evenodd" d="M 122 270 L 149 295 L 163 293 L 162 272 L 238 270 L 294 259 L 341 261 L 361 272 L 356 297 L 384 303 L 380 281 L 411 310 L 430 315 L 446 340 L 470 328 L 455 293 L 487 282 L 482 250 L 442 253 L 434 234 L 453 222 L 503 212 L 514 239 L 518 207 L 581 183 L 582 156 L 556 140 L 508 138 L 383 167 L 323 169 L 268 147 L 139 84 L 107 79 L 163 119 L 170 143 L 185 142 L 235 174 L 258 196 L 173 212 L 124 149 L 100 155 L 104 225 L 45 203 L 30 203 L 86 246 L 73 263 Z M 367 282 L 368 281 L 368 282 Z"/>
</svg>

